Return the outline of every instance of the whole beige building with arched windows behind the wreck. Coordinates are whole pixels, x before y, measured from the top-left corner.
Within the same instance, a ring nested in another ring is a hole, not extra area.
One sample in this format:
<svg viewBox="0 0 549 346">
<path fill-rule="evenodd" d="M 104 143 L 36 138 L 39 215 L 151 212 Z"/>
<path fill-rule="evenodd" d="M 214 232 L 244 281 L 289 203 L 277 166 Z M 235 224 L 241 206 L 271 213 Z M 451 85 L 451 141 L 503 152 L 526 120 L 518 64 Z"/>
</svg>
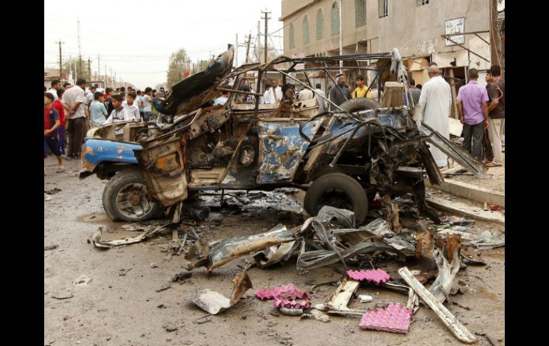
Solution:
<svg viewBox="0 0 549 346">
<path fill-rule="evenodd" d="M 339 55 L 341 27 L 343 54 L 380 53 L 397 48 L 406 58 L 404 63 L 409 69 L 409 78 L 414 78 L 416 83 L 425 83 L 429 79 L 427 64 L 434 61 L 443 68 L 446 81 L 456 92 L 463 85 L 468 68 L 483 70 L 491 66 L 490 6 L 498 5 L 499 9 L 494 11 L 501 11 L 502 2 L 282 0 L 279 20 L 284 22 L 284 55 Z M 339 4 L 342 6 L 341 26 Z M 504 6 L 503 2 L 503 9 Z M 474 34 L 448 37 L 453 42 L 442 36 L 456 33 Z M 501 39 L 501 31 L 494 36 L 496 41 Z M 497 46 L 501 47 L 499 42 Z M 352 77 L 354 71 L 346 73 Z M 367 74 L 368 79 L 375 76 L 375 73 Z M 484 82 L 483 76 L 479 82 Z"/>
</svg>

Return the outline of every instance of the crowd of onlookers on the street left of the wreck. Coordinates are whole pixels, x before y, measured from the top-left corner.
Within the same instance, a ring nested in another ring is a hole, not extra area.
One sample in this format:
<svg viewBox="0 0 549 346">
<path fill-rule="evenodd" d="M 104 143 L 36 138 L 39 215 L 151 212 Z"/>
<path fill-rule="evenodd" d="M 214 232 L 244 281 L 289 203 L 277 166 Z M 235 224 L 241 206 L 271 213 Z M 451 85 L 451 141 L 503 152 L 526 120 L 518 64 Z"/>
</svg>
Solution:
<svg viewBox="0 0 549 346">
<path fill-rule="evenodd" d="M 166 91 L 147 87 L 144 91 L 126 88 L 96 86 L 86 90 L 86 80 L 76 85 L 51 81 L 44 87 L 44 175 L 46 158 L 51 151 L 58 160 L 57 173 L 65 170 L 64 160 L 80 158 L 83 138 L 90 128 L 123 121 L 150 121 L 153 116 L 153 98 L 165 98 Z"/>
</svg>

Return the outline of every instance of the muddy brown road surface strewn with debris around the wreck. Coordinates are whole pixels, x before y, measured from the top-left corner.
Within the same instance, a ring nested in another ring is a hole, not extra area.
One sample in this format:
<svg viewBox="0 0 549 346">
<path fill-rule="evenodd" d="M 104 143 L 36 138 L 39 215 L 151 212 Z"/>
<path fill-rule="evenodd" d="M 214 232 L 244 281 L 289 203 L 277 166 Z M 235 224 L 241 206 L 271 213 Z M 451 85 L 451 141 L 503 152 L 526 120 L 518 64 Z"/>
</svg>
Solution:
<svg viewBox="0 0 549 346">
<path fill-rule="evenodd" d="M 182 257 L 168 260 L 167 253 L 162 252 L 171 234 L 123 248 L 98 250 L 86 240 L 100 225 L 109 238 L 135 232 L 120 231 L 123 224 L 106 218 L 101 204 L 105 181 L 95 176 L 79 181 L 78 161 L 67 162 L 66 173 L 54 173 L 55 158 L 47 162 L 44 190 L 61 191 L 45 195 L 49 200 L 44 202 L 44 246 L 58 245 L 44 250 L 44 345 L 461 345 L 426 307 L 414 316 L 407 335 L 360 330 L 358 318 L 332 316 L 330 322 L 323 323 L 276 316 L 271 302 L 257 300 L 253 290 L 230 310 L 200 319 L 207 313 L 189 301 L 190 295 L 210 288 L 228 297 L 232 278 L 250 263 L 251 256 L 210 275 L 200 268 L 183 283 L 170 283 L 173 275 L 184 271 Z M 292 225 L 279 210 L 268 208 L 238 215 L 235 210 L 224 210 L 220 225 L 201 223 L 206 227 L 200 229 L 200 235 L 214 240 L 260 233 L 278 223 Z M 474 232 L 503 230 L 501 225 L 488 223 L 476 223 L 474 228 Z M 470 265 L 458 273 L 471 290 L 466 295 L 451 296 L 470 310 L 447 306 L 471 332 L 481 334 L 478 345 L 491 345 L 483 335 L 490 336 L 496 345 L 504 345 L 505 250 L 486 251 L 483 258 L 488 265 Z M 396 275 L 402 264 L 379 261 L 376 265 Z M 414 269 L 414 263 L 406 265 Z M 283 267 L 252 268 L 249 275 L 254 289 L 294 283 L 304 290 L 340 276 L 332 268 L 299 272 L 295 259 Z M 333 286 L 322 286 L 313 295 L 313 304 L 324 302 L 333 291 Z M 389 301 L 404 304 L 407 298 L 375 287 L 361 288 L 362 292 L 373 295 L 374 300 L 351 307 L 374 307 Z"/>
</svg>

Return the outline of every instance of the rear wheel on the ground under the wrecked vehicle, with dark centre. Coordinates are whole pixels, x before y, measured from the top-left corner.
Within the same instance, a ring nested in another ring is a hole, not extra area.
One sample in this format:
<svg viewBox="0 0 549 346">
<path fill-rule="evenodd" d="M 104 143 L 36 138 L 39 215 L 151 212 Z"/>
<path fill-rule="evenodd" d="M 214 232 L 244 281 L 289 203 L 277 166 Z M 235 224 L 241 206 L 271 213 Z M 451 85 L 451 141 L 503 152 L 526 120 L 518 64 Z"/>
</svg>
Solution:
<svg viewBox="0 0 549 346">
<path fill-rule="evenodd" d="M 356 226 L 364 223 L 368 215 L 368 198 L 364 188 L 354 178 L 343 173 L 329 173 L 314 180 L 307 190 L 303 205 L 311 215 L 317 215 L 324 205 L 352 210 Z"/>
</svg>

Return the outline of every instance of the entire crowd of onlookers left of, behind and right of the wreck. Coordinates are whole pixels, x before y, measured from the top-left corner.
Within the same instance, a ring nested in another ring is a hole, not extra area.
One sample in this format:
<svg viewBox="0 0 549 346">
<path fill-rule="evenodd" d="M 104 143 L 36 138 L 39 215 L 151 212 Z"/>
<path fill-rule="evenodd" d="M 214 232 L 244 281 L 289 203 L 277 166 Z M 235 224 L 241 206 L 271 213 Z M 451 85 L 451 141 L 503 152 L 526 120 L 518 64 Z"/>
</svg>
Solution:
<svg viewBox="0 0 549 346">
<path fill-rule="evenodd" d="M 449 138 L 449 121 L 452 96 L 450 85 L 439 75 L 436 63 L 429 63 L 429 81 L 424 86 L 414 79 L 408 81 L 406 97 L 421 107 L 421 122 Z M 302 88 L 297 91 L 292 83 L 282 84 L 277 79 L 265 84 L 260 103 L 278 104 L 281 101 L 308 100 L 317 96 L 318 113 L 334 111 L 350 98 L 378 98 L 383 90 L 375 85 L 364 84 L 364 76 L 356 76 L 356 88 L 347 86 L 346 76 L 336 76 L 336 84 L 329 88 L 328 104 L 321 85 L 314 91 Z M 491 66 L 486 71 L 486 88 L 478 84 L 478 70 L 469 69 L 468 83 L 459 88 L 456 106 L 463 124 L 463 148 L 490 167 L 502 166 L 501 140 L 505 123 L 505 83 L 501 80 L 501 67 Z M 249 85 L 238 88 L 237 103 L 255 103 L 255 96 Z M 86 81 L 79 79 L 76 85 L 52 81 L 51 88 L 44 87 L 44 175 L 46 158 L 51 151 L 58 159 L 58 172 L 64 171 L 63 158 L 79 158 L 83 138 L 89 128 L 123 121 L 150 121 L 153 115 L 153 99 L 165 98 L 164 88 L 156 91 L 147 87 L 144 91 L 133 90 L 128 86 L 106 88 L 105 93 L 91 86 L 86 91 Z M 213 100 L 213 105 L 225 105 L 229 92 L 221 91 L 221 96 Z M 68 142 L 68 143 L 67 143 Z M 431 153 L 438 167 L 448 164 L 448 156 L 431 146 Z"/>
</svg>

